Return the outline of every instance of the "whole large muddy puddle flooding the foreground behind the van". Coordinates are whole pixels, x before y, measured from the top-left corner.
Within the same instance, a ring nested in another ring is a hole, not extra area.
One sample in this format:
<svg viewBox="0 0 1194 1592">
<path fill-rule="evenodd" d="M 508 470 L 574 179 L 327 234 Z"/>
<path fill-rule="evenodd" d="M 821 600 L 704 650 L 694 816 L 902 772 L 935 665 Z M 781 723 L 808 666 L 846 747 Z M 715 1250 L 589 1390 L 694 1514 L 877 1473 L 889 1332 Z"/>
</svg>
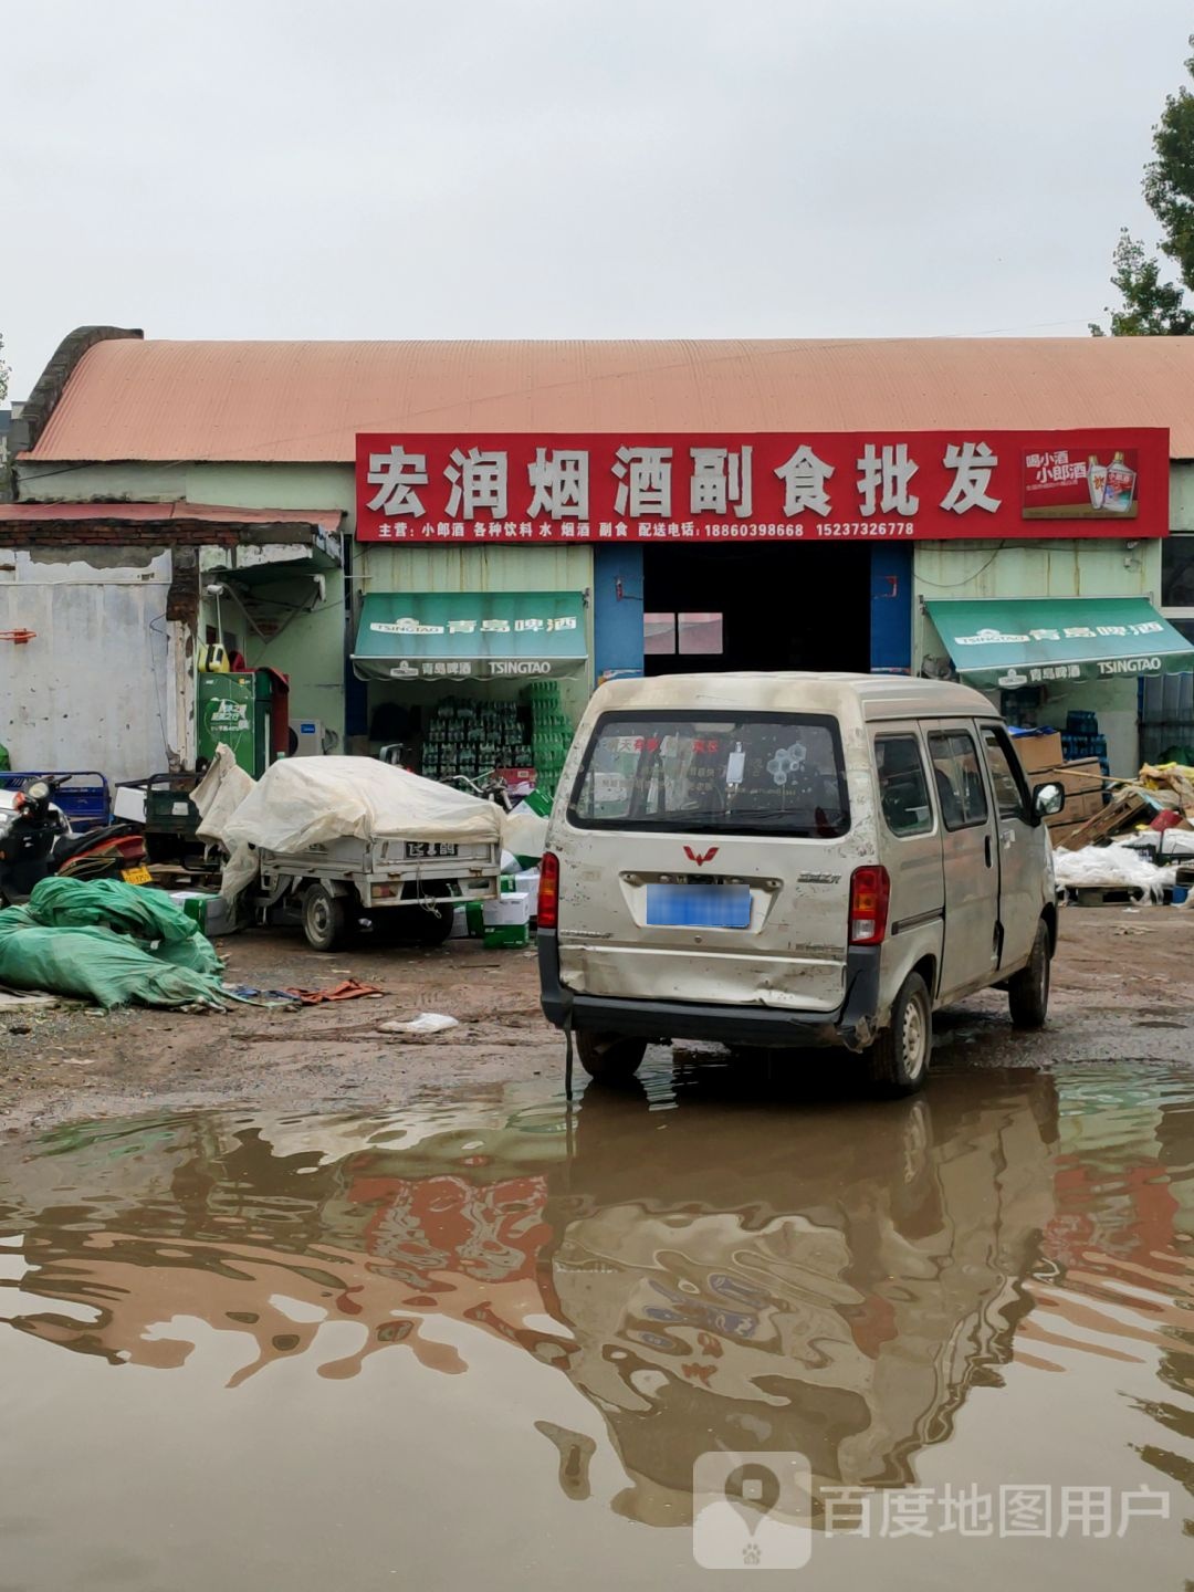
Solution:
<svg viewBox="0 0 1194 1592">
<path fill-rule="evenodd" d="M 729 1081 L 5 1145 L 0 1589 L 1176 1592 L 1191 1079 Z"/>
</svg>

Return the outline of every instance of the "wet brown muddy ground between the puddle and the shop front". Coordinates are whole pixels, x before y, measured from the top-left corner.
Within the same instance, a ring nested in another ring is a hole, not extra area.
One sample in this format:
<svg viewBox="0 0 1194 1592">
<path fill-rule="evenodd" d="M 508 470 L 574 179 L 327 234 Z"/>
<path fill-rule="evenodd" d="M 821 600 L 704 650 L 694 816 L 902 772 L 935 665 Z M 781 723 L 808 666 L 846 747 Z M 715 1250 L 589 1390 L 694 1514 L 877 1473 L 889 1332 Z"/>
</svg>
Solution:
<svg viewBox="0 0 1194 1592">
<path fill-rule="evenodd" d="M 1194 919 L 1172 907 L 1070 907 L 1062 923 L 1049 1027 L 1014 1033 L 1006 998 L 989 992 L 938 1016 L 935 1065 L 1194 1060 Z M 361 944 L 325 957 L 285 931 L 231 936 L 220 950 L 237 984 L 323 987 L 357 977 L 385 995 L 301 1011 L 0 1013 L 0 1134 L 159 1106 L 318 1110 L 396 1103 L 446 1083 L 562 1076 L 564 1044 L 538 1009 L 533 950 L 457 939 L 436 950 Z M 446 1013 L 460 1027 L 430 1038 L 380 1032 L 423 1011 Z M 826 1060 L 820 1052 L 801 1065 Z"/>
</svg>

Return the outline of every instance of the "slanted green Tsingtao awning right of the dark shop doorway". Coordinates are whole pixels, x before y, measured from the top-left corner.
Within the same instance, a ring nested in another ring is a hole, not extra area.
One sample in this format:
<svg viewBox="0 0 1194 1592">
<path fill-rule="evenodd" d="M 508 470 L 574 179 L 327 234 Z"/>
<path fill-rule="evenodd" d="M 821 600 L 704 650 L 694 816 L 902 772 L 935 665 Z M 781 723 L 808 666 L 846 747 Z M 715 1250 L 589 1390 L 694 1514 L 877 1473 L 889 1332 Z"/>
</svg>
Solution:
<svg viewBox="0 0 1194 1592">
<path fill-rule="evenodd" d="M 1143 597 L 930 602 L 925 608 L 958 675 L 985 691 L 1194 669 L 1194 643 Z"/>
</svg>

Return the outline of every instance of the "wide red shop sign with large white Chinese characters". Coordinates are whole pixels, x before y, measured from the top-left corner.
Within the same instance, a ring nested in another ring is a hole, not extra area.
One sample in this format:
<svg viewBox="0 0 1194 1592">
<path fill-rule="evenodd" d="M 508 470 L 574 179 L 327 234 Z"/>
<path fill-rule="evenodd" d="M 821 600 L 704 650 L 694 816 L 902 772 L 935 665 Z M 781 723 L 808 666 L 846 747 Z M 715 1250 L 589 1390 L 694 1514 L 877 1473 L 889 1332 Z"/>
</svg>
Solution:
<svg viewBox="0 0 1194 1592">
<path fill-rule="evenodd" d="M 358 541 L 1164 537 L 1169 431 L 361 433 Z"/>
</svg>

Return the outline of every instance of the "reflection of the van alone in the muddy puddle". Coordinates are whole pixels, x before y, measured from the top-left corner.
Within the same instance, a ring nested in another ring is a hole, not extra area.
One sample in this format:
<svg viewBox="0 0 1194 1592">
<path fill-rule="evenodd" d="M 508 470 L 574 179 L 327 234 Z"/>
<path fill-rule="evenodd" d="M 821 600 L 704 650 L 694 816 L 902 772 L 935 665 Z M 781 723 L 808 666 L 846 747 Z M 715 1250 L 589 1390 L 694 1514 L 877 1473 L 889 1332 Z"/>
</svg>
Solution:
<svg viewBox="0 0 1194 1592">
<path fill-rule="evenodd" d="M 949 1436 L 1011 1355 L 1052 1212 L 1052 1083 L 973 1084 L 796 1119 L 586 1097 L 551 1278 L 632 1482 L 619 1511 L 686 1517 L 710 1447 L 876 1484 Z"/>
</svg>

